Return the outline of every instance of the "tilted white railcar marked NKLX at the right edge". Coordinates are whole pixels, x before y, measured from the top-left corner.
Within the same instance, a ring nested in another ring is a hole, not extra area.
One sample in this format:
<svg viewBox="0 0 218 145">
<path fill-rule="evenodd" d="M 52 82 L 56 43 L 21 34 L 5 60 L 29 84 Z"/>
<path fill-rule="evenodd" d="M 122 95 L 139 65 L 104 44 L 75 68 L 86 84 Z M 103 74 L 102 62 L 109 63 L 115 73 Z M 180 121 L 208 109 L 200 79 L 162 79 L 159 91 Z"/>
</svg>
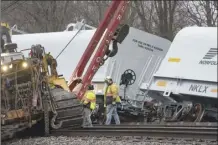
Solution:
<svg viewBox="0 0 218 145">
<path fill-rule="evenodd" d="M 217 122 L 217 27 L 179 31 L 141 90 L 164 103 L 165 120 Z"/>
</svg>

